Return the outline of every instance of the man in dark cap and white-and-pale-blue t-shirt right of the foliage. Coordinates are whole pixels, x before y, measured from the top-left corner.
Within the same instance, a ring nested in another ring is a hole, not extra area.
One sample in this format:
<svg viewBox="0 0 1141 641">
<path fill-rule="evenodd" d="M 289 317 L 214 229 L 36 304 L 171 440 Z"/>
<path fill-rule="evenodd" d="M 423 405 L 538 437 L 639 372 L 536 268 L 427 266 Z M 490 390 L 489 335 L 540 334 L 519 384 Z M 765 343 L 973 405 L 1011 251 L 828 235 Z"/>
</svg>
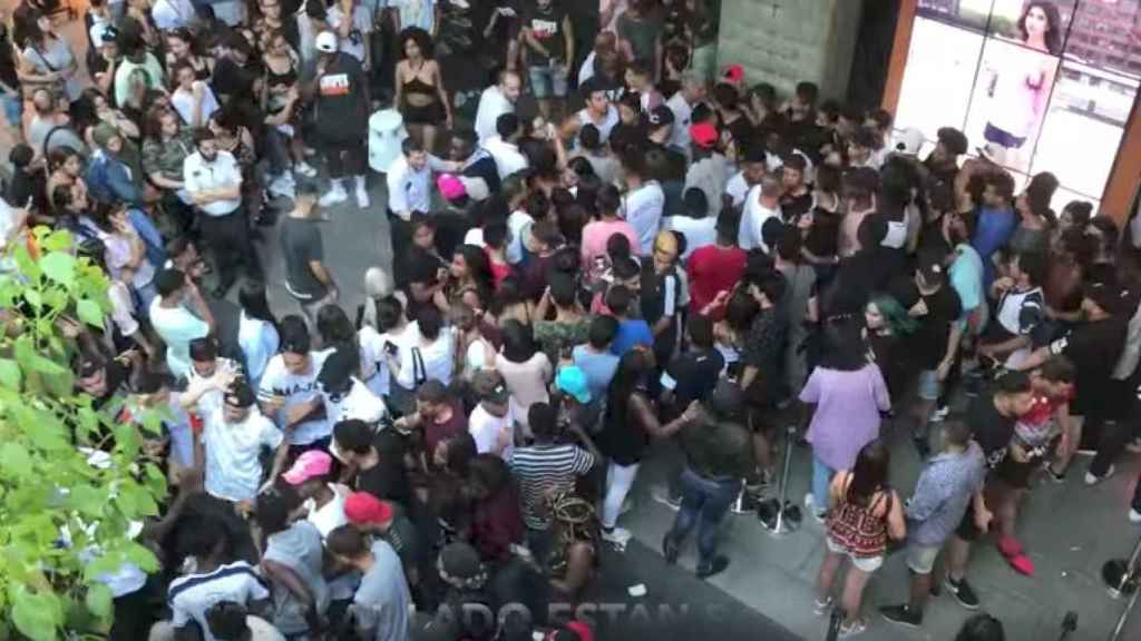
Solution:
<svg viewBox="0 0 1141 641">
<path fill-rule="evenodd" d="M 221 406 L 200 403 L 218 389 L 226 390 Z M 273 485 L 285 465 L 289 443 L 254 401 L 253 390 L 244 379 L 224 372 L 194 381 L 179 400 L 186 409 L 196 407 L 202 416 L 194 460 L 199 469 L 205 470 L 205 490 L 215 498 L 248 504 L 258 492 Z M 267 449 L 274 452 L 268 476 L 261 465 L 261 454 Z"/>
</svg>

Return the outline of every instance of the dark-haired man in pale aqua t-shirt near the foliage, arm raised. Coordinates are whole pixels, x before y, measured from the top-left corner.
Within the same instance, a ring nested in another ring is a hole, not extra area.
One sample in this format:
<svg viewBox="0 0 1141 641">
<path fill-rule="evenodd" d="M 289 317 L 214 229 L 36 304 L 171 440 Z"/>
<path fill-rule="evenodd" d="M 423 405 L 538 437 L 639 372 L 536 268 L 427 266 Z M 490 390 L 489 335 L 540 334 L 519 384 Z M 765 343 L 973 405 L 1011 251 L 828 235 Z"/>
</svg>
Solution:
<svg viewBox="0 0 1141 641">
<path fill-rule="evenodd" d="M 215 332 L 215 318 L 210 306 L 192 278 L 178 269 L 164 269 L 154 278 L 159 295 L 148 309 L 151 326 L 167 343 L 167 367 L 178 378 L 191 373 L 191 341 Z M 184 307 L 189 303 L 197 315 Z"/>
</svg>

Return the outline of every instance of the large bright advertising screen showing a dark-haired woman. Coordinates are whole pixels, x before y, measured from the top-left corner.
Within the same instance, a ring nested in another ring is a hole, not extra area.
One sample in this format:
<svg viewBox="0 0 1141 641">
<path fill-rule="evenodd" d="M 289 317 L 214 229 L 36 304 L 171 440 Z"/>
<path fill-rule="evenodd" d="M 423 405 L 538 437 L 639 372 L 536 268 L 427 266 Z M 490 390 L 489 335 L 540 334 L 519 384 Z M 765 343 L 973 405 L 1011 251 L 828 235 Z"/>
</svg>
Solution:
<svg viewBox="0 0 1141 641">
<path fill-rule="evenodd" d="M 1097 201 L 1141 84 L 1141 0 L 920 0 L 896 114 Z"/>
</svg>

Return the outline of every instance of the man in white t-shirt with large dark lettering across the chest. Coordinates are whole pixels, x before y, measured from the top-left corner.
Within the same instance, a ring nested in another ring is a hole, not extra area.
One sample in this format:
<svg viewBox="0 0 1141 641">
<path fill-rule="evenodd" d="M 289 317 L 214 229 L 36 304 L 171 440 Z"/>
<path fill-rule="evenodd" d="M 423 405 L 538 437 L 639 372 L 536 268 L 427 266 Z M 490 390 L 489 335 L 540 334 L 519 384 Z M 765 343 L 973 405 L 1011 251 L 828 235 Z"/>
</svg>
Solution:
<svg viewBox="0 0 1141 641">
<path fill-rule="evenodd" d="M 297 449 L 329 440 L 332 423 L 317 412 L 323 406 L 317 375 L 330 351 L 310 351 L 305 319 L 282 318 L 281 351 L 269 359 L 258 389 L 262 412 L 285 432 Z"/>
</svg>

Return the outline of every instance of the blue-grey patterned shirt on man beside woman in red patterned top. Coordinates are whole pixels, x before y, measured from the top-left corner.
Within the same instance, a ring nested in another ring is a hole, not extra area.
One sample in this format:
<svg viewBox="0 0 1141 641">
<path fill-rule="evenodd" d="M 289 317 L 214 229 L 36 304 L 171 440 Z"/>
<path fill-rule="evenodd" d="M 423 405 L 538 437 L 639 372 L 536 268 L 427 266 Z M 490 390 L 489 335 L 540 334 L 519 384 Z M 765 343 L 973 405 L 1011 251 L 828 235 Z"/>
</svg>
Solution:
<svg viewBox="0 0 1141 641">
<path fill-rule="evenodd" d="M 931 459 L 907 502 L 907 535 L 916 545 L 942 545 L 966 513 L 974 493 L 982 489 L 987 463 L 979 444 L 965 452 L 945 452 Z"/>
</svg>

